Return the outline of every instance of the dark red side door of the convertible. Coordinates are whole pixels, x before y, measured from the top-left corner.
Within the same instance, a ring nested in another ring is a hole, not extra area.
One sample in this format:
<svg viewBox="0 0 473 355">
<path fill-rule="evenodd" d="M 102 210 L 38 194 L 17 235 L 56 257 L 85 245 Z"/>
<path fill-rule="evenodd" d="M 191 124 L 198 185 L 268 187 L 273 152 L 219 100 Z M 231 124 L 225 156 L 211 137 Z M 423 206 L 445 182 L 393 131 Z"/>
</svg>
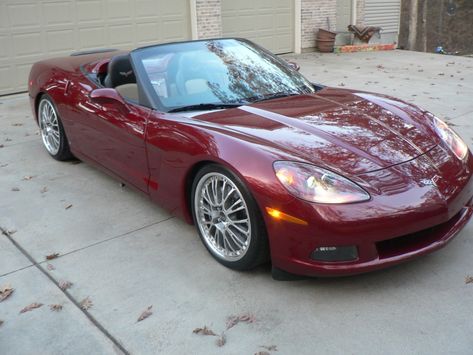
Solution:
<svg viewBox="0 0 473 355">
<path fill-rule="evenodd" d="M 82 98 L 70 113 L 73 149 L 147 192 L 145 134 L 150 110 L 132 103 L 98 104 L 88 96 Z"/>
</svg>

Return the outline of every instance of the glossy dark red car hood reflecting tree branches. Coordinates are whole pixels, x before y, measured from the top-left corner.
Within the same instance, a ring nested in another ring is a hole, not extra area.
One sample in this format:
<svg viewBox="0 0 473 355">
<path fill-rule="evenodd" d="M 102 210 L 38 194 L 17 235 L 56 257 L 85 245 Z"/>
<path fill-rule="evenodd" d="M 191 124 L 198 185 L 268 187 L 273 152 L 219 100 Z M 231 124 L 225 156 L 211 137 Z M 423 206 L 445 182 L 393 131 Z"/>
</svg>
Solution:
<svg viewBox="0 0 473 355">
<path fill-rule="evenodd" d="M 438 144 L 424 113 L 386 96 L 325 88 L 194 116 L 243 133 L 296 159 L 348 174 L 372 172 L 422 155 Z"/>
</svg>

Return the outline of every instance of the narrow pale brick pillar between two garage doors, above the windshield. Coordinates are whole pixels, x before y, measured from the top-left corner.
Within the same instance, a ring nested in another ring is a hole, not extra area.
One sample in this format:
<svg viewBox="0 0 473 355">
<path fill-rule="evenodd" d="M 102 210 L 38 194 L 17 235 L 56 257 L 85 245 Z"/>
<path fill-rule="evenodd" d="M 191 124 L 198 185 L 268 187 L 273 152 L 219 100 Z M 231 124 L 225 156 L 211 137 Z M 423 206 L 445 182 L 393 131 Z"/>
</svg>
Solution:
<svg viewBox="0 0 473 355">
<path fill-rule="evenodd" d="M 221 0 L 196 0 L 198 38 L 222 36 L 221 5 Z"/>
</svg>

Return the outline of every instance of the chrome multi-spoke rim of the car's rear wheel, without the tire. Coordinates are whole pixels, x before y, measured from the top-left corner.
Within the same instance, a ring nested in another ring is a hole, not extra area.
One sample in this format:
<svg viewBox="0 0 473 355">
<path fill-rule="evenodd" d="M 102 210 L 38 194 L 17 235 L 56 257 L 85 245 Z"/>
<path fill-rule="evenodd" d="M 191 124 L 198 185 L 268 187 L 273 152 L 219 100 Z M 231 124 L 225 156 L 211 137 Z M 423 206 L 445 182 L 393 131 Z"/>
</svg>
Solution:
<svg viewBox="0 0 473 355">
<path fill-rule="evenodd" d="M 43 144 L 51 155 L 56 155 L 61 143 L 61 131 L 56 110 L 49 100 L 43 99 L 39 104 L 38 112 Z"/>
</svg>

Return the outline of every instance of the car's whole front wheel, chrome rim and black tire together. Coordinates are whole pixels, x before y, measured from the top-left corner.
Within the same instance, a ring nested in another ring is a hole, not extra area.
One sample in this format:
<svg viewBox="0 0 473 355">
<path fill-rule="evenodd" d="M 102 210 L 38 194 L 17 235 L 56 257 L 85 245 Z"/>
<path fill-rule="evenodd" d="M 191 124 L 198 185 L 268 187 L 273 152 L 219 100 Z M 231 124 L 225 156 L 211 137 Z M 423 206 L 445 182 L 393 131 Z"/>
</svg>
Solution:
<svg viewBox="0 0 473 355">
<path fill-rule="evenodd" d="M 249 270 L 268 260 L 258 206 L 228 169 L 210 164 L 198 172 L 192 187 L 192 212 L 202 242 L 219 263 Z"/>
</svg>

